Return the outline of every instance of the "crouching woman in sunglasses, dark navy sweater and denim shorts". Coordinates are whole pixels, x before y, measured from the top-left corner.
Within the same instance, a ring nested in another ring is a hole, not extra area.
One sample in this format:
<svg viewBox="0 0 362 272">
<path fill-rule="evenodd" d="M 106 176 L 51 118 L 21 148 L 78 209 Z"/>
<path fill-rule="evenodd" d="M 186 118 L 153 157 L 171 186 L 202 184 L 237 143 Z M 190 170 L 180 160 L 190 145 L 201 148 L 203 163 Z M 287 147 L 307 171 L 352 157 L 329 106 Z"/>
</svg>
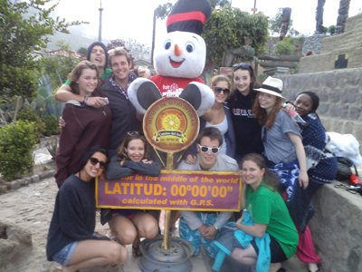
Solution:
<svg viewBox="0 0 362 272">
<path fill-rule="evenodd" d="M 94 232 L 94 179 L 100 177 L 106 165 L 107 151 L 90 147 L 82 154 L 81 170 L 65 180 L 57 193 L 46 256 L 61 264 L 63 272 L 127 261 L 126 248 Z"/>
</svg>

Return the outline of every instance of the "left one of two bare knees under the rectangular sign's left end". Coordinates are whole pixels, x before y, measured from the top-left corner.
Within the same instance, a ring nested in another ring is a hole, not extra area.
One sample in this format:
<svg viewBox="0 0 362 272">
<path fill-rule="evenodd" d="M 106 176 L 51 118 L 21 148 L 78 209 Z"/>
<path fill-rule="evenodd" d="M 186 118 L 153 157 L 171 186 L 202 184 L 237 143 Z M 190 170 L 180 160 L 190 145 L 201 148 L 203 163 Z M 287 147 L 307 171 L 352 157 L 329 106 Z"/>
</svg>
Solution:
<svg viewBox="0 0 362 272">
<path fill-rule="evenodd" d="M 120 214 L 114 215 L 110 219 L 110 229 L 115 232 L 117 241 L 122 245 L 132 244 L 137 237 L 135 225 L 131 220 Z"/>
</svg>

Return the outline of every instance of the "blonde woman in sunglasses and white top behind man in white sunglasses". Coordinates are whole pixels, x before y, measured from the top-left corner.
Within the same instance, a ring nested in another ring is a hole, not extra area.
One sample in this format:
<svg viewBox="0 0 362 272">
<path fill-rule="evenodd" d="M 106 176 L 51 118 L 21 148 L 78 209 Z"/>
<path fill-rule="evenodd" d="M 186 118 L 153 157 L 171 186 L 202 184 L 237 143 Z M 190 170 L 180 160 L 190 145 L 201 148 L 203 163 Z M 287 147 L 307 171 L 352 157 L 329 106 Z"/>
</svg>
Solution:
<svg viewBox="0 0 362 272">
<path fill-rule="evenodd" d="M 229 157 L 235 154 L 235 135 L 233 132 L 233 122 L 226 105 L 226 100 L 230 94 L 231 83 L 224 75 L 215 75 L 210 82 L 210 88 L 214 91 L 214 105 L 200 118 L 200 131 L 205 127 L 214 127 L 223 135 L 223 145 L 220 153 Z M 196 143 L 186 151 L 186 162 L 196 163 Z"/>
</svg>

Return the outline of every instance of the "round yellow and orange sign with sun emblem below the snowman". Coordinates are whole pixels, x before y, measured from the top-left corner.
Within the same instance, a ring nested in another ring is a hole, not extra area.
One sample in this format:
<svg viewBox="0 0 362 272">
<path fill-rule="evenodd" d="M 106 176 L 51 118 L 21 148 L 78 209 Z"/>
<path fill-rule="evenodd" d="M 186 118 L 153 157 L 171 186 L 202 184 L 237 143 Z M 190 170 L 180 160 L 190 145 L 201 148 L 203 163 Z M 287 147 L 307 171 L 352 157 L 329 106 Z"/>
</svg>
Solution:
<svg viewBox="0 0 362 272">
<path fill-rule="evenodd" d="M 183 151 L 196 139 L 199 120 L 193 106 L 173 97 L 154 102 L 143 119 L 148 142 L 164 152 Z"/>
</svg>

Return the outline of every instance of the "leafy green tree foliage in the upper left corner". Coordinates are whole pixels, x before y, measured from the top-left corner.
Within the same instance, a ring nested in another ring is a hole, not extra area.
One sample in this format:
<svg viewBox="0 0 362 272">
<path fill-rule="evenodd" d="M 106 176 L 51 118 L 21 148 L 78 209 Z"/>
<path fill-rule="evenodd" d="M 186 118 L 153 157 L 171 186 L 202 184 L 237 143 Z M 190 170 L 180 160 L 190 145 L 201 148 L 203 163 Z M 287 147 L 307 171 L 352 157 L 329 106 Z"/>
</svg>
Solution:
<svg viewBox="0 0 362 272">
<path fill-rule="evenodd" d="M 50 2 L 0 0 L 0 95 L 33 97 L 38 65 L 32 52 L 46 47 L 47 35 L 69 33 L 69 26 L 83 23 L 53 19 L 50 14 L 59 3 L 45 8 Z M 35 13 L 29 16 L 30 11 Z"/>
</svg>

